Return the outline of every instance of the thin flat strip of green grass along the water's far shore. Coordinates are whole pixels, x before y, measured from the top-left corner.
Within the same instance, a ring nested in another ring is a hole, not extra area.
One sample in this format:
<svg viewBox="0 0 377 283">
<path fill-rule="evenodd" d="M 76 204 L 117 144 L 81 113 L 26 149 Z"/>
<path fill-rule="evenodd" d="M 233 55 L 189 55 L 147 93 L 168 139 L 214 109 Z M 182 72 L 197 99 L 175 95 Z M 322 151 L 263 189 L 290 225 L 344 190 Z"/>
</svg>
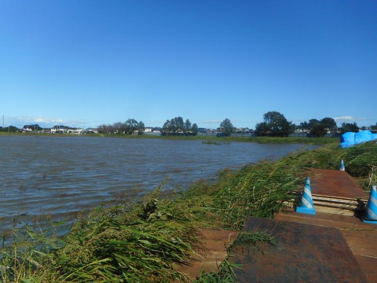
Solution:
<svg viewBox="0 0 377 283">
<path fill-rule="evenodd" d="M 114 134 L 34 134 L 0 132 L 0 136 L 52 136 L 52 137 L 112 137 L 127 139 L 168 139 L 168 140 L 204 140 L 218 142 L 255 142 L 255 143 L 291 143 L 291 144 L 332 144 L 339 143 L 339 138 L 305 138 L 305 137 L 216 137 L 216 136 L 153 136 L 153 135 L 114 135 Z"/>
</svg>

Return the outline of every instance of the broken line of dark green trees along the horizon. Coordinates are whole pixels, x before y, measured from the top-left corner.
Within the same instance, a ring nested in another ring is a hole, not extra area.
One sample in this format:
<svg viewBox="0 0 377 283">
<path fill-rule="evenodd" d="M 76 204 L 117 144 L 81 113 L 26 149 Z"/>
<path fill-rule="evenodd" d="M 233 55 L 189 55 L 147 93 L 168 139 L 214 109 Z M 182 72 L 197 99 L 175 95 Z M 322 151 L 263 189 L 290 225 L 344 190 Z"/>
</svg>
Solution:
<svg viewBox="0 0 377 283">
<path fill-rule="evenodd" d="M 54 127 L 68 128 L 68 126 L 64 125 Z M 24 128 L 31 128 L 35 131 L 42 130 L 38 124 L 24 125 Z M 106 134 L 140 135 L 145 133 L 145 125 L 142 121 L 138 122 L 135 119 L 127 119 L 125 122 L 99 125 L 97 130 L 99 133 Z M 189 119 L 184 121 L 180 116 L 166 120 L 162 128 L 157 127 L 154 128 L 154 130 L 161 132 L 164 136 L 196 136 L 199 132 L 196 123 L 192 124 Z M 205 129 L 201 128 L 201 131 L 203 130 Z M 288 121 L 280 112 L 269 111 L 263 115 L 263 122 L 256 124 L 255 131 L 253 131 L 252 128 L 246 128 L 247 133 L 255 133 L 256 136 L 260 137 L 287 137 L 289 134 L 297 130 L 310 133 L 310 136 L 313 137 L 323 137 L 328 132 L 343 134 L 346 132 L 358 132 L 359 130 L 377 130 L 377 123 L 370 125 L 369 127 L 359 127 L 356 122 L 343 122 L 341 126 L 338 127 L 333 118 L 325 117 L 321 120 L 310 119 L 308 122 L 304 121 L 300 124 L 294 124 L 291 121 Z M 12 125 L 4 128 L 0 126 L 0 132 L 20 131 L 21 129 Z M 224 119 L 216 130 L 216 132 L 222 136 L 230 136 L 232 133 L 243 133 L 244 131 L 245 128 L 235 128 L 230 119 Z"/>
</svg>

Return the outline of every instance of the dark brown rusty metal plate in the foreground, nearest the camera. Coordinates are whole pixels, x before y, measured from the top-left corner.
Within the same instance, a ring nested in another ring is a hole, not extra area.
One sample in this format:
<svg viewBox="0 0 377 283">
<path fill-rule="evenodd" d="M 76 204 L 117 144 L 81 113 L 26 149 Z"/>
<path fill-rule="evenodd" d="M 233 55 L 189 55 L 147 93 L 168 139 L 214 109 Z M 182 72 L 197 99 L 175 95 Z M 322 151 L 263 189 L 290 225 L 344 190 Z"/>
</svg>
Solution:
<svg viewBox="0 0 377 283">
<path fill-rule="evenodd" d="M 264 254 L 236 252 L 240 282 L 367 282 L 335 228 L 250 217 L 243 230 L 267 230 L 277 245 L 264 245 Z"/>
</svg>

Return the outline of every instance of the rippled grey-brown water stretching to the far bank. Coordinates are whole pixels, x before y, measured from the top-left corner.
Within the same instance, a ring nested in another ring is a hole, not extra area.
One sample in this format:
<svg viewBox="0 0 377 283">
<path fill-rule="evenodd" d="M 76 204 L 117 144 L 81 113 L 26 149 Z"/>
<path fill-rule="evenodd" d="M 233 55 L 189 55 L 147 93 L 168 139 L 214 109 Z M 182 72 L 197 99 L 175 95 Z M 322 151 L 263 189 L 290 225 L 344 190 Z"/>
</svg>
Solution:
<svg viewBox="0 0 377 283">
<path fill-rule="evenodd" d="M 220 169 L 277 159 L 298 144 L 202 144 L 194 140 L 0 136 L 0 229 L 13 219 L 59 219 L 117 195 L 140 197 L 214 178 Z M 316 146 L 308 146 L 307 149 Z"/>
</svg>

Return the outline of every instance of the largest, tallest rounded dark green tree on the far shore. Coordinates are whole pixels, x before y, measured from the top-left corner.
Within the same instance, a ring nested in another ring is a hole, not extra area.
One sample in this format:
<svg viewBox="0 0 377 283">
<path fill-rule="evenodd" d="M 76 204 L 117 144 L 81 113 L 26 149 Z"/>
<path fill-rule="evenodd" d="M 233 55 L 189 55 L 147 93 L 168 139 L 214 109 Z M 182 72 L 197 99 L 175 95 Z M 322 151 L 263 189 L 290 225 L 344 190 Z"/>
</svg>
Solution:
<svg viewBox="0 0 377 283">
<path fill-rule="evenodd" d="M 263 115 L 263 122 L 256 125 L 255 131 L 261 136 L 286 137 L 292 133 L 292 122 L 287 121 L 283 114 L 270 111 Z"/>
</svg>

